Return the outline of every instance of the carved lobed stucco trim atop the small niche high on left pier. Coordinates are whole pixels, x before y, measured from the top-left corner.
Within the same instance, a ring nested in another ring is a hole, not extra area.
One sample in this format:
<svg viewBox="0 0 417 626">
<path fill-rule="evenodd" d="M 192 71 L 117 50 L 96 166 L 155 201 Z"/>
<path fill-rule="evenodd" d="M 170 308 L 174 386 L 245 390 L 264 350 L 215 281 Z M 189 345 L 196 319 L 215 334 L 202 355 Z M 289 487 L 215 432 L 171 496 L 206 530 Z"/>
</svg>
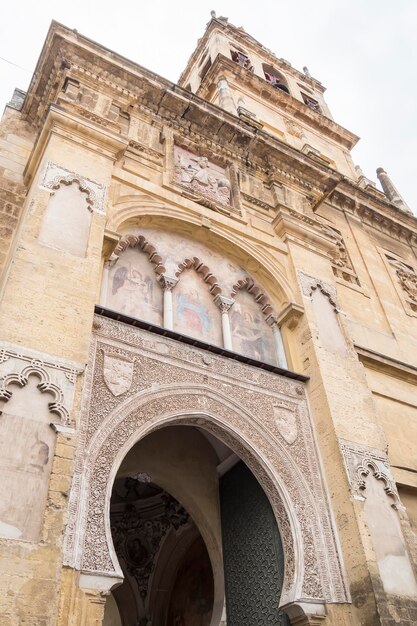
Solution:
<svg viewBox="0 0 417 626">
<path fill-rule="evenodd" d="M 87 203 L 92 211 L 104 214 L 106 212 L 106 186 L 96 183 L 76 172 L 71 172 L 61 165 L 49 161 L 42 176 L 41 187 L 54 192 L 60 185 L 77 183 L 80 190 L 87 194 Z"/>
</svg>

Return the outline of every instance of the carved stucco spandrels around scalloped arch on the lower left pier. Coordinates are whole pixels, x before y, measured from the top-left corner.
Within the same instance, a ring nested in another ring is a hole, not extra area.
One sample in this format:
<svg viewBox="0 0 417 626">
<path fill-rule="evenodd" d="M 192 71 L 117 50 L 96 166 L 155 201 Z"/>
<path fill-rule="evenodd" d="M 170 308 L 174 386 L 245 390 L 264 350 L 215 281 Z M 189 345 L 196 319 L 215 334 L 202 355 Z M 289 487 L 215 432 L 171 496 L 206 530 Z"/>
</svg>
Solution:
<svg viewBox="0 0 417 626">
<path fill-rule="evenodd" d="M 0 400 L 7 402 L 13 393 L 10 385 L 24 387 L 29 376 L 39 379 L 38 389 L 53 396 L 49 410 L 58 415 L 61 424 L 70 423 L 77 374 L 82 367 L 22 346 L 0 343 Z"/>
</svg>

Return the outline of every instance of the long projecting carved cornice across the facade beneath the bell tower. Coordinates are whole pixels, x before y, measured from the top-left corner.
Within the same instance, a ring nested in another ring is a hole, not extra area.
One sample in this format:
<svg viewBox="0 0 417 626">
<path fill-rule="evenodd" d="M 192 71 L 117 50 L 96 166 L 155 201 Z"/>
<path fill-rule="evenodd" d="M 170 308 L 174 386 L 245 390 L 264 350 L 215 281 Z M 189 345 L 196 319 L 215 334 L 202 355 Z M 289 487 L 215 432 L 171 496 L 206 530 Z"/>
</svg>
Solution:
<svg viewBox="0 0 417 626">
<path fill-rule="evenodd" d="M 241 160 L 245 166 L 250 163 L 264 171 L 276 168 L 284 178 L 316 187 L 320 192 L 332 173 L 331 168 L 315 163 L 285 142 L 117 54 L 110 56 L 102 46 L 80 35 L 75 37 L 73 31 L 57 24 L 52 25 L 48 34 L 25 100 L 23 115 L 28 121 L 39 127 L 48 107 L 58 100 L 61 106 L 73 109 L 74 104 L 60 96 L 65 79 L 73 75 L 80 81 L 84 77 L 86 84 L 94 78 L 96 91 L 99 88 L 113 94 L 126 106 L 134 103 L 161 127 L 171 126 L 193 142 L 214 149 L 229 160 L 233 157 L 234 161 Z M 53 83 L 54 89 L 48 87 L 49 83 Z M 113 124 L 110 129 L 104 118 L 99 116 L 100 119 L 95 120 L 96 113 L 82 107 L 77 114 L 88 117 L 90 124 L 97 125 L 98 132 L 109 133 L 113 129 Z"/>
</svg>

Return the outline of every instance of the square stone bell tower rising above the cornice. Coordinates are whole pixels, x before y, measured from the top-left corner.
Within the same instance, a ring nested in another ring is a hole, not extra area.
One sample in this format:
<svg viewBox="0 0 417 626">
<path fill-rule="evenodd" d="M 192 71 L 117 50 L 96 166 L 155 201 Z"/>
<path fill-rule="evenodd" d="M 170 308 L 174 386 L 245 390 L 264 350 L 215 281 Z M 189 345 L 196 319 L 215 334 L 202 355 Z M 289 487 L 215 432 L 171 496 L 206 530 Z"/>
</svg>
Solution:
<svg viewBox="0 0 417 626">
<path fill-rule="evenodd" d="M 358 180 L 350 151 L 359 138 L 333 120 L 321 82 L 214 11 L 179 84 L 259 132 Z"/>
</svg>

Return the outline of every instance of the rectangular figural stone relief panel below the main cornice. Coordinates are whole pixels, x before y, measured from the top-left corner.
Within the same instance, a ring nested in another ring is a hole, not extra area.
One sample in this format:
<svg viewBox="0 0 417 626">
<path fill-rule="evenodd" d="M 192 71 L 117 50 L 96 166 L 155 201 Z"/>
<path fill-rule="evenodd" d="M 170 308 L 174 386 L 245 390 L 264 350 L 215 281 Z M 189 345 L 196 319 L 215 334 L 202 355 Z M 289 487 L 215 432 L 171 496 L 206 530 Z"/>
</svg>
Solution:
<svg viewBox="0 0 417 626">
<path fill-rule="evenodd" d="M 215 202 L 231 203 L 231 183 L 226 169 L 180 146 L 174 146 L 174 180 Z"/>
</svg>

